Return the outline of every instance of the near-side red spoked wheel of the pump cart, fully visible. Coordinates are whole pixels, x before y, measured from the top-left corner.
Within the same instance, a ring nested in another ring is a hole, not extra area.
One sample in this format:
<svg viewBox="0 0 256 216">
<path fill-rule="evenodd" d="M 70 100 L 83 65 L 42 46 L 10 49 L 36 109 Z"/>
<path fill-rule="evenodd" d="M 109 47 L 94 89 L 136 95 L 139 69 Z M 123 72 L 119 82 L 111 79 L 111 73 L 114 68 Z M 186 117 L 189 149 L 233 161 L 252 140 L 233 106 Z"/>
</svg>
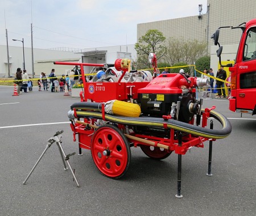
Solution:
<svg viewBox="0 0 256 216">
<path fill-rule="evenodd" d="M 99 171 L 110 178 L 120 178 L 127 172 L 131 150 L 125 135 L 112 125 L 98 127 L 90 148 Z"/>
</svg>

